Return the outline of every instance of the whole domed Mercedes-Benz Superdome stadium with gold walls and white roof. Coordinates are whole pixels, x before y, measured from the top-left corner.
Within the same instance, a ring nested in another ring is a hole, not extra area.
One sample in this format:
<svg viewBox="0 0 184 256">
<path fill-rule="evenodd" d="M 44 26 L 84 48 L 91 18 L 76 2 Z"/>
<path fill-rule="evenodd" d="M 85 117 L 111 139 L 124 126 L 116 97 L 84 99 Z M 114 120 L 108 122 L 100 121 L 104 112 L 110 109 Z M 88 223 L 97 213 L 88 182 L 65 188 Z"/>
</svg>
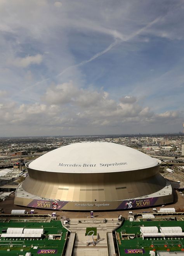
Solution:
<svg viewBox="0 0 184 256">
<path fill-rule="evenodd" d="M 109 142 L 59 147 L 26 164 L 14 203 L 62 210 L 135 209 L 174 201 L 161 161 Z"/>
</svg>

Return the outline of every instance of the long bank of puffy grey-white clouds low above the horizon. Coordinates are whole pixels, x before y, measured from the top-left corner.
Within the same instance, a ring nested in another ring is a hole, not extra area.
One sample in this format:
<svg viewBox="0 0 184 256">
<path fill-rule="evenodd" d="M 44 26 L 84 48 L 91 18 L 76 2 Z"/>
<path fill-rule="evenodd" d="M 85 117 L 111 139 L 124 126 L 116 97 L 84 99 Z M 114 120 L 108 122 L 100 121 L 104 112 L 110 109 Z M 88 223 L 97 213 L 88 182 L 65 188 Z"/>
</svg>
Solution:
<svg viewBox="0 0 184 256">
<path fill-rule="evenodd" d="M 103 89 L 79 88 L 72 81 L 52 84 L 42 96 L 42 101 L 33 104 L 1 103 L 1 123 L 9 127 L 14 124 L 20 129 L 26 126 L 30 132 L 34 127 L 36 132 L 43 128 L 47 133 L 52 127 L 56 134 L 59 130 L 66 134 L 68 130 L 82 134 L 97 132 L 98 129 L 106 131 L 107 127 L 120 131 L 122 126 L 132 127 L 132 123 L 153 127 L 171 120 L 178 122 L 181 118 L 178 111 L 156 114 L 148 106 L 139 105 L 135 96 L 123 96 L 121 101 L 115 101 Z"/>
</svg>

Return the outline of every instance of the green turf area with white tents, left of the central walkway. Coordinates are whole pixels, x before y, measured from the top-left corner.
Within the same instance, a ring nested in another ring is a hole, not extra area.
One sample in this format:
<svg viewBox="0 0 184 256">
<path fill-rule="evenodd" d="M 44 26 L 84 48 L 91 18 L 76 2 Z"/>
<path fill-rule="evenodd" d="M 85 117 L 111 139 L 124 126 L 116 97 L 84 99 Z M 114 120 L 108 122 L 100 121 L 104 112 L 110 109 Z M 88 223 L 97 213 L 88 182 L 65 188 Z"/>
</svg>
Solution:
<svg viewBox="0 0 184 256">
<path fill-rule="evenodd" d="M 14 223 L 14 222 L 0 222 L 0 233 L 2 233 L 2 230 L 5 230 L 7 228 L 44 228 L 44 235 L 49 234 L 61 234 L 61 240 L 49 240 L 48 238 L 42 238 L 37 240 L 33 238 L 18 238 L 17 240 L 14 238 L 1 238 L 0 239 L 0 256 L 17 256 L 17 255 L 24 255 L 26 252 L 31 252 L 31 256 L 37 256 L 39 255 L 37 252 L 40 249 L 56 249 L 57 253 L 54 254 L 54 256 L 61 256 L 62 250 L 64 248 L 65 244 L 65 238 L 66 238 L 66 232 L 67 230 L 62 227 L 61 221 L 51 221 L 50 223 Z M 10 245 L 13 245 L 13 247 L 10 247 Z M 25 245 L 26 247 L 24 247 Z M 38 249 L 33 249 L 33 246 L 38 246 Z M 7 249 L 10 249 L 10 251 L 7 251 Z M 21 251 L 23 249 L 23 251 Z M 45 254 L 40 254 L 45 255 Z"/>
</svg>

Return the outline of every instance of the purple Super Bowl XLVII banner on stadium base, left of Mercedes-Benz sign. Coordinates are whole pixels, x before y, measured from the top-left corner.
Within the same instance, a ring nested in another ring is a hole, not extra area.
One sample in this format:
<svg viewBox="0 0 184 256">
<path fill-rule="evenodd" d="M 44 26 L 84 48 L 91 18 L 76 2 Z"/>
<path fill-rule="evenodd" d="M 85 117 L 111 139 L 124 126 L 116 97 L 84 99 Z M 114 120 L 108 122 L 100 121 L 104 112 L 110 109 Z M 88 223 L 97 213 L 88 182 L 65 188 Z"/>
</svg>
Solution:
<svg viewBox="0 0 184 256">
<path fill-rule="evenodd" d="M 27 207 L 34 207 L 34 208 L 42 208 L 42 209 L 62 209 L 64 205 L 66 205 L 68 202 L 62 202 L 62 201 L 50 201 L 50 200 L 36 200 L 33 199 L 31 203 L 27 205 Z"/>
</svg>

